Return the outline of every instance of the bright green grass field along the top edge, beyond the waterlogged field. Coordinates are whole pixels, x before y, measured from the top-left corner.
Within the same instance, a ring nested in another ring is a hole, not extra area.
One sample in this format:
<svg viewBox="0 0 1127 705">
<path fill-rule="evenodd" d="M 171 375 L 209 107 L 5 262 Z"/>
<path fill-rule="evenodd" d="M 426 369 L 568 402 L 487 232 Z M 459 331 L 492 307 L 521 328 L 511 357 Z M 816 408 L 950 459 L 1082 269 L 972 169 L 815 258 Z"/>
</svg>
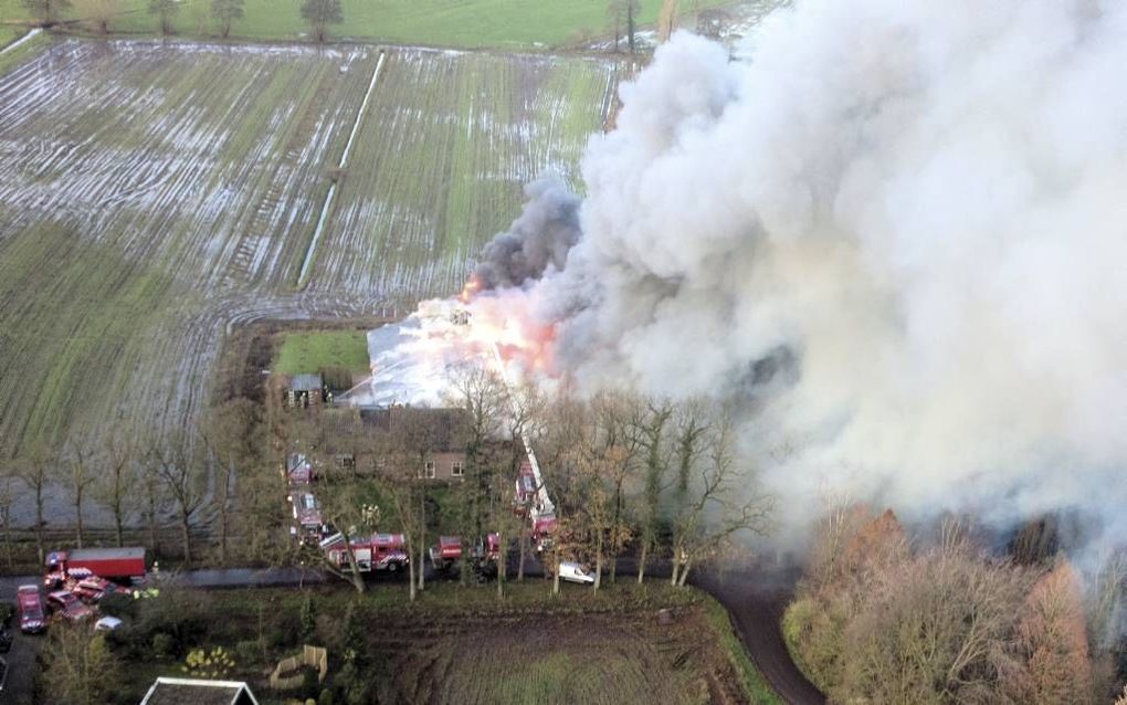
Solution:
<svg viewBox="0 0 1127 705">
<path fill-rule="evenodd" d="M 730 0 L 696 0 L 693 10 L 729 3 Z M 117 0 L 110 32 L 153 34 L 157 20 L 148 14 L 148 0 Z M 341 25 L 331 28 L 335 38 L 452 47 L 534 50 L 582 43 L 612 33 L 606 0 L 344 0 Z M 682 3 L 689 6 L 690 3 Z M 64 17 L 83 17 L 81 3 Z M 184 0 L 174 19 L 185 36 L 218 34 L 210 0 Z M 246 17 L 231 34 L 248 39 L 295 39 L 308 33 L 299 14 L 299 0 L 247 0 Z M 662 0 L 641 0 L 639 25 L 653 25 Z M 691 8 L 685 7 L 684 12 Z M 0 20 L 25 19 L 20 0 L 0 0 Z"/>
</svg>

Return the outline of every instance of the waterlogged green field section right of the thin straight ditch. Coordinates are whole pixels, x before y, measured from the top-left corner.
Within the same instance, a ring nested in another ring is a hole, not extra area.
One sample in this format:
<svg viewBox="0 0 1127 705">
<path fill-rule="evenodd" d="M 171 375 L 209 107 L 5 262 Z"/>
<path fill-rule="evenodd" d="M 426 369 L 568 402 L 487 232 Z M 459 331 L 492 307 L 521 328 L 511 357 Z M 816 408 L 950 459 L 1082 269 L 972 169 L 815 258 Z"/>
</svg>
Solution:
<svg viewBox="0 0 1127 705">
<path fill-rule="evenodd" d="M 520 212 L 524 184 L 549 171 L 575 184 L 613 72 L 586 59 L 389 53 L 309 290 L 405 301 L 458 291 Z"/>
</svg>

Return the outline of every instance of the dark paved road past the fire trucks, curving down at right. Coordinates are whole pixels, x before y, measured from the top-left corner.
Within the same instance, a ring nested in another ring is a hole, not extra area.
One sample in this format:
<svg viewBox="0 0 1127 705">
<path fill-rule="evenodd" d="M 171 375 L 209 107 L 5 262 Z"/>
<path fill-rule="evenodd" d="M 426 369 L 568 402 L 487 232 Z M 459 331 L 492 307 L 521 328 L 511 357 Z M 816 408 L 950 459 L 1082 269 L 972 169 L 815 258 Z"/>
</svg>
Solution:
<svg viewBox="0 0 1127 705">
<path fill-rule="evenodd" d="M 620 559 L 620 574 L 632 570 L 633 561 Z M 656 570 L 650 574 L 660 576 L 663 573 L 668 575 L 668 570 Z M 515 566 L 511 574 L 516 574 Z M 539 565 L 532 571 L 525 570 L 525 575 L 540 574 Z M 429 580 L 431 575 L 427 578 Z M 180 573 L 177 579 L 184 584 L 203 590 L 298 587 L 326 582 L 326 576 L 318 571 L 295 567 L 189 571 Z M 30 575 L 0 578 L 0 600 L 15 601 L 16 589 L 19 585 L 38 581 L 38 576 Z M 795 575 L 791 572 L 748 569 L 700 573 L 692 582 L 727 608 L 752 660 L 784 700 L 792 705 L 824 705 L 825 697 L 798 670 L 782 641 L 779 619 L 795 584 Z M 25 636 L 18 628 L 14 633 L 16 640 L 7 656 L 8 687 L 0 695 L 0 704 L 29 705 L 35 652 L 43 643 L 43 637 Z"/>
</svg>

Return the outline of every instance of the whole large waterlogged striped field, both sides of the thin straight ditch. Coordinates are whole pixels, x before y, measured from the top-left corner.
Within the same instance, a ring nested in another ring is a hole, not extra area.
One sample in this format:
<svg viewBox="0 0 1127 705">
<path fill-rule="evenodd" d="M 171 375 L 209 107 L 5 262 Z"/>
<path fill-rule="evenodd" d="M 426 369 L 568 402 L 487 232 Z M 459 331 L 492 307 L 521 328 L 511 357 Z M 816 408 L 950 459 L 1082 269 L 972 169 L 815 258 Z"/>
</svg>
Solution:
<svg viewBox="0 0 1127 705">
<path fill-rule="evenodd" d="M 379 50 L 44 37 L 12 53 L 0 72 L 5 455 L 183 428 L 240 323 L 382 317 L 458 291 L 518 212 L 521 184 L 541 165 L 574 170 L 613 73 L 388 52 L 300 290 Z M 349 368 L 366 368 L 361 354 Z"/>
</svg>

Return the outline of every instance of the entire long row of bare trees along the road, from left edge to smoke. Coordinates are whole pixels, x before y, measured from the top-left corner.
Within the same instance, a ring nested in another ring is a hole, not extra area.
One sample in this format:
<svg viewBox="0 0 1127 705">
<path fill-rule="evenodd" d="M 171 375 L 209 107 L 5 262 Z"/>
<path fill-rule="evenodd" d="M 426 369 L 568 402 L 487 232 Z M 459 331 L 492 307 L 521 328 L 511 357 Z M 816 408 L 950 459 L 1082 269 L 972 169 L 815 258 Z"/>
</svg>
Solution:
<svg viewBox="0 0 1127 705">
<path fill-rule="evenodd" d="M 566 390 L 544 398 L 532 386 L 511 390 L 477 365 L 460 368 L 450 380 L 446 406 L 459 409 L 453 416 L 399 409 L 394 424 L 380 425 L 355 409 L 294 413 L 281 395 L 272 384 L 265 404 L 233 397 L 192 431 L 148 442 L 110 435 L 100 447 L 29 450 L 0 474 L 0 529 L 10 531 L 14 502 L 27 497 L 42 561 L 47 520 L 62 522 L 47 517 L 47 501 L 56 496 L 53 487 L 62 487 L 72 509 L 63 521 L 73 526 L 78 546 L 88 543 L 87 517 L 97 504 L 113 518 L 118 545 L 131 527 L 143 528 L 150 548 L 159 550 L 171 523 L 189 563 L 198 559 L 201 534 L 218 548 L 220 563 L 232 558 L 232 546 L 240 561 L 320 562 L 316 550 L 295 556 L 284 530 L 287 486 L 279 468 L 301 453 L 321 472 L 314 492 L 323 519 L 346 538 L 374 530 L 405 535 L 412 594 L 425 589 L 423 572 L 415 571 L 426 562 L 440 519 L 468 538 L 468 548 L 469 539 L 500 534 L 506 550 L 520 553 L 523 579 L 531 527 L 513 511 L 522 437 L 536 448 L 556 502 L 558 529 L 545 563 L 588 563 L 596 589 L 604 576 L 616 578 L 618 556 L 628 550 L 638 557 L 637 580 L 660 557 L 673 563 L 671 581 L 683 585 L 696 566 L 735 550 L 740 535 L 770 528 L 772 502 L 742 458 L 733 412 L 707 399 L 618 393 L 584 399 Z M 446 492 L 441 518 L 434 485 L 421 472 L 440 447 L 465 456 L 463 481 Z M 500 564 L 498 591 L 507 578 Z M 339 572 L 364 589 L 354 557 Z M 471 579 L 463 571 L 463 580 Z"/>
</svg>

